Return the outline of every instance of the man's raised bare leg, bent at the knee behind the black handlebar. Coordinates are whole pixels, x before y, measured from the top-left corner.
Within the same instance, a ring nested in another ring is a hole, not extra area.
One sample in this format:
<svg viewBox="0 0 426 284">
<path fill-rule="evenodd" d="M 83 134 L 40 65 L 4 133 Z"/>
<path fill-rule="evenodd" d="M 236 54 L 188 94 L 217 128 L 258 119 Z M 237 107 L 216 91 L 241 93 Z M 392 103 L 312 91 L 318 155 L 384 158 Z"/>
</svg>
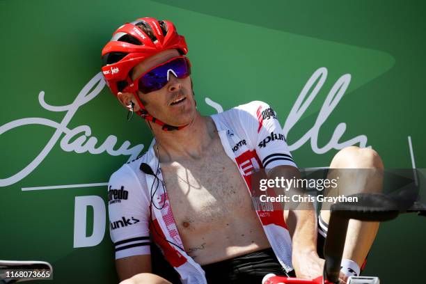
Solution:
<svg viewBox="0 0 426 284">
<path fill-rule="evenodd" d="M 339 194 L 345 192 L 344 187 L 350 187 L 354 193 L 377 193 L 381 191 L 383 184 L 383 163 L 380 156 L 372 149 L 347 147 L 340 150 L 331 161 L 332 168 L 370 168 L 368 171 L 329 171 L 327 178 L 339 176 Z M 346 191 L 347 192 L 347 191 Z M 332 195 L 335 195 L 336 192 Z M 320 221 L 326 224 L 330 220 L 328 208 L 322 208 Z M 353 260 L 362 268 L 363 262 L 370 251 L 370 247 L 379 230 L 379 222 L 365 222 L 350 220 L 347 228 L 345 250 L 342 258 Z"/>
</svg>

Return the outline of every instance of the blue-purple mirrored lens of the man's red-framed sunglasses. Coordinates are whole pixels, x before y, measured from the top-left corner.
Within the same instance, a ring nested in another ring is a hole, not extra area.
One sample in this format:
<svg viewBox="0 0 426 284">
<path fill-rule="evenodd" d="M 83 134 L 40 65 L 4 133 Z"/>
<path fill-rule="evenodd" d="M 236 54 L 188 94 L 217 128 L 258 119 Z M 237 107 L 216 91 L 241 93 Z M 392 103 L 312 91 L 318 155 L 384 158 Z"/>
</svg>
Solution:
<svg viewBox="0 0 426 284">
<path fill-rule="evenodd" d="M 139 79 L 138 88 L 142 93 L 159 90 L 166 86 L 168 77 L 172 74 L 179 79 L 186 78 L 191 74 L 191 68 L 186 58 L 176 58 L 150 70 Z"/>
</svg>

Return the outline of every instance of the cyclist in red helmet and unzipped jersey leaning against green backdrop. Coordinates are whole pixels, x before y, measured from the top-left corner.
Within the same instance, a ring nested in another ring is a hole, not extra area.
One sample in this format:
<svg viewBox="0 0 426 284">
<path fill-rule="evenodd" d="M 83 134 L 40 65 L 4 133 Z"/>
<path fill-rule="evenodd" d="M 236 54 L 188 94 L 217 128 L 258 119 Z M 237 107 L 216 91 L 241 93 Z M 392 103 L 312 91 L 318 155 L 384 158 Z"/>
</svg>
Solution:
<svg viewBox="0 0 426 284">
<path fill-rule="evenodd" d="M 102 50 L 102 72 L 112 93 L 144 118 L 155 136 L 144 155 L 109 181 L 110 232 L 120 279 L 170 283 L 151 273 L 151 238 L 182 283 L 260 283 L 268 273 L 322 275 L 313 210 L 265 214 L 252 209 L 253 169 L 265 168 L 271 179 L 299 176 L 276 113 L 255 101 L 202 116 L 187 52 L 172 22 L 149 17 L 120 26 Z M 349 147 L 330 167 L 383 165 L 374 150 Z M 363 181 L 377 185 L 381 179 Z M 325 236 L 328 219 L 324 210 L 318 239 Z M 378 223 L 349 224 L 342 283 L 359 274 L 377 229 Z"/>
</svg>

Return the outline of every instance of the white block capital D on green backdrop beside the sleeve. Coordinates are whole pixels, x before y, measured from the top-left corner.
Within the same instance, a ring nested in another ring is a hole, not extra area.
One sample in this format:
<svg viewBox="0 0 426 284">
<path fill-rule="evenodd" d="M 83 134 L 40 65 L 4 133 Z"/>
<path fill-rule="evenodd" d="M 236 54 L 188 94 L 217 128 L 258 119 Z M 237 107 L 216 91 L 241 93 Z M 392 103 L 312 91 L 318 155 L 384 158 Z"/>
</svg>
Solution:
<svg viewBox="0 0 426 284">
<path fill-rule="evenodd" d="M 86 236 L 87 207 L 93 207 L 93 233 Z M 100 196 L 76 196 L 74 205 L 74 248 L 96 246 L 105 235 L 106 211 Z"/>
</svg>

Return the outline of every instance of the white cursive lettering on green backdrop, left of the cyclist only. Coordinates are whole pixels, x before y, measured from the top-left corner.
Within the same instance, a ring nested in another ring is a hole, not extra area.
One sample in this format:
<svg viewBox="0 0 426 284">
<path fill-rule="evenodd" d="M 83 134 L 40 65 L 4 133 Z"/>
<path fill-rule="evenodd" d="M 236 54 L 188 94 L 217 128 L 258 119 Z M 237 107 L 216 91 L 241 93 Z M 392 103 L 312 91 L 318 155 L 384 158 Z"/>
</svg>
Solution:
<svg viewBox="0 0 426 284">
<path fill-rule="evenodd" d="M 90 100 L 93 100 L 93 98 L 95 98 L 101 92 L 104 86 L 105 81 L 102 78 L 102 74 L 98 73 L 88 82 L 88 84 L 86 84 L 86 86 L 84 86 L 84 88 L 81 89 L 74 102 L 59 107 L 47 104 L 47 102 L 45 102 L 45 92 L 41 91 L 38 95 L 38 101 L 44 109 L 47 109 L 48 111 L 66 111 L 66 114 L 61 123 L 56 123 L 56 121 L 49 120 L 47 118 L 21 118 L 2 125 L 0 127 L 0 135 L 8 132 L 11 129 L 24 125 L 45 125 L 53 127 L 56 129 L 56 131 L 54 132 L 49 142 L 47 142 L 45 145 L 45 148 L 41 150 L 40 154 L 38 154 L 38 156 L 33 159 L 33 161 L 31 161 L 31 163 L 29 163 L 25 168 L 23 168 L 18 173 L 15 173 L 15 175 L 12 175 L 9 178 L 1 179 L 0 187 L 7 187 L 10 184 L 15 184 L 32 173 L 34 169 L 36 169 L 38 165 L 40 165 L 40 163 L 45 159 L 45 157 L 49 155 L 49 152 L 52 150 L 54 145 L 56 145 L 62 134 L 65 134 L 65 136 L 63 136 L 61 139 L 60 145 L 62 150 L 66 152 L 89 152 L 90 154 L 100 154 L 102 152 L 107 152 L 112 156 L 130 155 L 129 159 L 136 158 L 137 155 L 139 155 L 139 153 L 143 150 L 143 144 L 138 144 L 132 148 L 129 148 L 130 142 L 125 141 L 120 146 L 120 148 L 118 148 L 118 150 L 114 150 L 114 146 L 117 143 L 117 137 L 109 135 L 104 143 L 96 148 L 95 145 L 97 144 L 97 138 L 93 136 L 88 138 L 92 132 L 88 125 L 80 125 L 74 129 L 69 129 L 67 127 L 79 107 L 86 104 L 87 102 L 90 102 Z M 72 139 L 75 137 L 77 137 L 77 139 L 72 141 Z M 70 141 L 72 142 L 70 143 Z"/>
</svg>

